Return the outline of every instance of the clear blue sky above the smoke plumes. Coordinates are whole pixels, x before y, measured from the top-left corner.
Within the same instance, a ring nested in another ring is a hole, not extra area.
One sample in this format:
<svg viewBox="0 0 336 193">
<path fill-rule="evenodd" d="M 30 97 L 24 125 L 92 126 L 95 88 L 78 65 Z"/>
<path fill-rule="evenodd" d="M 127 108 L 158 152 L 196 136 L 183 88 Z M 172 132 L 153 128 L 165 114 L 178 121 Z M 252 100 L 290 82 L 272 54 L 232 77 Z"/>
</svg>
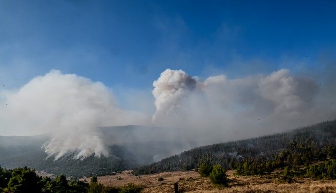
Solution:
<svg viewBox="0 0 336 193">
<path fill-rule="evenodd" d="M 331 0 L 1 0 L 0 81 L 18 88 L 57 69 L 150 92 L 167 68 L 204 78 L 314 71 L 335 59 L 335 10 Z"/>
</svg>

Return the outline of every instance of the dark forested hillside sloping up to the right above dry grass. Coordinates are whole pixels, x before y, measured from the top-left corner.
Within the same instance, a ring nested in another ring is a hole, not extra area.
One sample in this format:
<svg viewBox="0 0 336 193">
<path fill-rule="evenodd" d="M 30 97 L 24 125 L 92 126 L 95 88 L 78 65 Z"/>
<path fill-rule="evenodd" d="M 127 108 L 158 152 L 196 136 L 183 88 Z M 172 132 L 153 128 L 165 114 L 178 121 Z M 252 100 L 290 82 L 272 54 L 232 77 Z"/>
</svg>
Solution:
<svg viewBox="0 0 336 193">
<path fill-rule="evenodd" d="M 335 145 L 336 120 L 333 120 L 286 133 L 194 148 L 135 168 L 133 173 L 190 170 L 205 163 L 220 164 L 225 169 L 244 167 L 246 174 L 258 174 L 285 166 L 307 167 L 314 161 L 334 158 Z"/>
</svg>

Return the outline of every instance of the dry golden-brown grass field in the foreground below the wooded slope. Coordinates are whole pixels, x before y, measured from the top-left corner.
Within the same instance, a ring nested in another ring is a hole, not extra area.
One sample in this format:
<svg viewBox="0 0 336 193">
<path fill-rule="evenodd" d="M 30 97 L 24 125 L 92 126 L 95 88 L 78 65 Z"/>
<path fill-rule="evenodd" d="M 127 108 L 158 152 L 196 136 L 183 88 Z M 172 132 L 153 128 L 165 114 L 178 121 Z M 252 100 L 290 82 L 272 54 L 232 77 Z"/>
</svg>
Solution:
<svg viewBox="0 0 336 193">
<path fill-rule="evenodd" d="M 146 193 L 174 192 L 178 182 L 180 192 L 336 192 L 336 180 L 312 180 L 294 178 L 295 183 L 277 183 L 278 178 L 271 176 L 234 176 L 228 171 L 231 180 L 227 188 L 215 188 L 208 178 L 201 178 L 197 172 L 163 172 L 159 174 L 133 176 L 131 171 L 123 171 L 115 176 L 98 177 L 104 185 L 123 186 L 127 183 L 143 185 Z M 159 182 L 158 178 L 164 180 Z M 81 180 L 90 181 L 90 178 Z"/>
</svg>

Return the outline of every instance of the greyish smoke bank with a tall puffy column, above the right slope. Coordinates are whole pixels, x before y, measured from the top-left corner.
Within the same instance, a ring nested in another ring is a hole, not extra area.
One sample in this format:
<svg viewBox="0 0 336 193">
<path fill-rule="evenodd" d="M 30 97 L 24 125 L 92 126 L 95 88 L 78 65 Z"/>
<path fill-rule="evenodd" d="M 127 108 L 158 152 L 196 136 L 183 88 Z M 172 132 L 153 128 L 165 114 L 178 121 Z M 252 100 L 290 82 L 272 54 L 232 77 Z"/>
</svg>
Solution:
<svg viewBox="0 0 336 193">
<path fill-rule="evenodd" d="M 179 126 L 181 135 L 201 144 L 256 137 L 336 117 L 336 106 L 322 107 L 321 90 L 330 88 L 285 69 L 204 81 L 167 69 L 153 86 L 157 110 L 152 122 Z"/>
</svg>

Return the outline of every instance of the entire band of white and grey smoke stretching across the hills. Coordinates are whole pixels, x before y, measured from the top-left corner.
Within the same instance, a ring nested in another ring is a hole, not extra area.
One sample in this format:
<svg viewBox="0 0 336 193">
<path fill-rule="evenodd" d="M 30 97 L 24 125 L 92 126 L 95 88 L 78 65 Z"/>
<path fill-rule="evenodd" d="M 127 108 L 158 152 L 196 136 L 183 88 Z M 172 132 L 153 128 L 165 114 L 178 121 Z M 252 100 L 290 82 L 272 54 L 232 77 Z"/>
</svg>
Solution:
<svg viewBox="0 0 336 193">
<path fill-rule="evenodd" d="M 182 70 L 167 69 L 153 83 L 156 112 L 146 115 L 121 109 L 100 82 L 52 70 L 18 90 L 1 91 L 0 127 L 6 131 L 0 135 L 51 133 L 44 146 L 50 157 L 75 153 L 74 158 L 85 158 L 109 155 L 106 144 L 111 142 L 103 140 L 99 126 L 153 124 L 171 128 L 160 135 L 137 132 L 130 139 L 151 136 L 160 141 L 170 136 L 196 142 L 186 144 L 183 151 L 334 119 L 334 78 L 324 80 L 316 83 L 282 69 L 269 75 L 219 75 L 201 81 Z"/>
</svg>

